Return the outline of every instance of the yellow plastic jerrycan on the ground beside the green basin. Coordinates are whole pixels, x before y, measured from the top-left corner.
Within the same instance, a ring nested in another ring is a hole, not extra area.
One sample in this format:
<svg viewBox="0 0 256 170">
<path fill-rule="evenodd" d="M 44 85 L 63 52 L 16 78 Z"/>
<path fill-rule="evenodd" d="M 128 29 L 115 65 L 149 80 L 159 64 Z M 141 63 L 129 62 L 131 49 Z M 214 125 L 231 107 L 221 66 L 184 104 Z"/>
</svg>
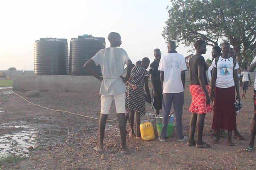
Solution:
<svg viewBox="0 0 256 170">
<path fill-rule="evenodd" d="M 152 140 L 155 138 L 154 127 L 152 123 L 147 122 L 147 123 L 141 124 L 140 130 L 141 130 L 142 140 Z"/>
</svg>

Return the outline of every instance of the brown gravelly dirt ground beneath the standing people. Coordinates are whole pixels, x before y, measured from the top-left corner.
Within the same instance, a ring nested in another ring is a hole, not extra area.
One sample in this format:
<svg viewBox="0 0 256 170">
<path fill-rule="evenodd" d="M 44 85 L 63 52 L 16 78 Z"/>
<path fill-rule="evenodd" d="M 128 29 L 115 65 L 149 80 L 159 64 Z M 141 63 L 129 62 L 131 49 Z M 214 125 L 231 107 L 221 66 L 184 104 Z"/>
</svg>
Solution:
<svg viewBox="0 0 256 170">
<path fill-rule="evenodd" d="M 212 113 L 208 113 L 204 126 L 204 142 L 210 149 L 188 147 L 170 137 L 160 143 L 156 137 L 142 141 L 127 137 L 131 154 L 120 153 L 118 122 L 108 122 L 105 132 L 105 151 L 96 153 L 98 144 L 98 120 L 54 112 L 27 103 L 15 94 L 0 95 L 0 137 L 15 136 L 22 130 L 30 130 L 29 145 L 34 149 L 22 152 L 26 159 L 5 163 L 1 169 L 255 169 L 256 151 L 244 152 L 249 144 L 253 118 L 253 87 L 237 116 L 237 128 L 246 140 L 233 139 L 233 147 L 227 145 L 227 137 L 214 144 L 210 133 Z M 25 92 L 17 92 L 25 96 Z M 30 102 L 47 108 L 66 110 L 99 118 L 100 95 L 98 92 L 41 92 L 38 97 L 25 97 Z M 186 87 L 183 110 L 183 131 L 189 135 L 191 96 Z M 147 112 L 152 112 L 146 105 Z M 114 105 L 109 119 L 115 119 Z M 23 135 L 24 137 L 24 135 Z M 21 137 L 22 138 L 22 137 Z M 27 147 L 27 146 L 26 146 Z"/>
</svg>

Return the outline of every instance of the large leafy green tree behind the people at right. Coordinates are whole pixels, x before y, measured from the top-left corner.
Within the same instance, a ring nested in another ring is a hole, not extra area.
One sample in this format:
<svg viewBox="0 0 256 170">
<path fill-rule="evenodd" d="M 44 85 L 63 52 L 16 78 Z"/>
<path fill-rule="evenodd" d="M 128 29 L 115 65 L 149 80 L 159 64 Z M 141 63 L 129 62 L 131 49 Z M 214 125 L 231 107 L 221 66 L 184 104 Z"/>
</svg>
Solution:
<svg viewBox="0 0 256 170">
<path fill-rule="evenodd" d="M 250 63 L 256 54 L 256 0 L 170 0 L 163 37 L 193 47 L 229 41 L 237 62 Z"/>
</svg>

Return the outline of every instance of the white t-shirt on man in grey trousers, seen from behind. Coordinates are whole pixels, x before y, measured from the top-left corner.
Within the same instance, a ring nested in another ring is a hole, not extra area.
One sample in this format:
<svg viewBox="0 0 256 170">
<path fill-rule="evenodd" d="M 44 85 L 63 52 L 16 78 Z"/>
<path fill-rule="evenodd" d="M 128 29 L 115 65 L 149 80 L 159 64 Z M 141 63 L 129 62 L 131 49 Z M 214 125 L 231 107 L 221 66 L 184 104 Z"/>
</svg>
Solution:
<svg viewBox="0 0 256 170">
<path fill-rule="evenodd" d="M 164 71 L 163 92 L 183 92 L 181 71 L 187 70 L 185 58 L 182 54 L 167 53 L 161 56 L 158 71 Z"/>
</svg>

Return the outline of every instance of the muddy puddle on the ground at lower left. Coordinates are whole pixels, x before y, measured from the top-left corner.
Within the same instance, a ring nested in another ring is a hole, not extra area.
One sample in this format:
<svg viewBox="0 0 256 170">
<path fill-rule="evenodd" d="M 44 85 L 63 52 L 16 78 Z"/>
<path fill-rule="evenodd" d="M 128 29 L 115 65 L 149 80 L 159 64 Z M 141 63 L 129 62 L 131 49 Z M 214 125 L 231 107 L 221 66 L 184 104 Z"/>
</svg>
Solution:
<svg viewBox="0 0 256 170">
<path fill-rule="evenodd" d="M 80 131 L 78 127 L 50 124 L 27 124 L 25 121 L 5 123 L 0 126 L 0 156 L 30 156 L 29 151 L 65 142 Z"/>
</svg>

